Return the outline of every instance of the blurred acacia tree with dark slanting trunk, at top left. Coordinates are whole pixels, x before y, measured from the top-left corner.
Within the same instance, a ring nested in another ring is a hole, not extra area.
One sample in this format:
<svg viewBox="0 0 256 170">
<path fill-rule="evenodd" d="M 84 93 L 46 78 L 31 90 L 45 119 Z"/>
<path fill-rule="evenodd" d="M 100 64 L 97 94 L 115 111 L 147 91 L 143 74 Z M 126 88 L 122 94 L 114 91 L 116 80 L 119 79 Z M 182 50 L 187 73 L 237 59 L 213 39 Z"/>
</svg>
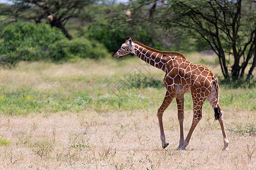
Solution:
<svg viewBox="0 0 256 170">
<path fill-rule="evenodd" d="M 72 36 L 65 28 L 70 18 L 76 17 L 93 0 L 13 0 L 16 18 L 32 19 L 35 23 L 49 20 L 52 27 L 60 28 L 68 39 Z"/>
</svg>

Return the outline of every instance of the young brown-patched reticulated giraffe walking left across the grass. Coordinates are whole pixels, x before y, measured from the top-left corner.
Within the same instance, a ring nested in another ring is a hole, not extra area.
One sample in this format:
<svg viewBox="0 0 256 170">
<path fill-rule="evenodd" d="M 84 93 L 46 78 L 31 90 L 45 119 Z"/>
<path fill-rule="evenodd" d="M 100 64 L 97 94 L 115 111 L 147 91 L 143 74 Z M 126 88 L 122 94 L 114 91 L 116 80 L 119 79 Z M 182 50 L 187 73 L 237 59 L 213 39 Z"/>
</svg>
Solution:
<svg viewBox="0 0 256 170">
<path fill-rule="evenodd" d="M 223 120 L 223 111 L 219 104 L 219 87 L 216 75 L 207 67 L 189 62 L 185 56 L 179 52 L 162 52 L 152 49 L 141 42 L 131 40 L 127 37 L 125 43 L 114 54 L 114 58 L 133 53 L 148 64 L 161 69 L 166 73 L 164 76 L 164 86 L 166 87 L 166 96 L 160 108 L 157 117 L 160 128 L 160 139 L 162 148 L 166 148 L 169 143 L 166 142 L 163 129 L 163 113 L 176 98 L 177 117 L 180 125 L 180 139 L 177 150 L 186 150 L 189 140 L 196 128 L 196 125 L 202 118 L 202 107 L 207 99 L 214 110 L 215 120 L 220 122 L 222 135 L 224 138 L 223 150 L 229 150 L 229 140 L 226 135 Z M 183 120 L 184 120 L 184 94 L 191 93 L 193 99 L 193 121 L 191 128 L 184 139 Z"/>
</svg>

